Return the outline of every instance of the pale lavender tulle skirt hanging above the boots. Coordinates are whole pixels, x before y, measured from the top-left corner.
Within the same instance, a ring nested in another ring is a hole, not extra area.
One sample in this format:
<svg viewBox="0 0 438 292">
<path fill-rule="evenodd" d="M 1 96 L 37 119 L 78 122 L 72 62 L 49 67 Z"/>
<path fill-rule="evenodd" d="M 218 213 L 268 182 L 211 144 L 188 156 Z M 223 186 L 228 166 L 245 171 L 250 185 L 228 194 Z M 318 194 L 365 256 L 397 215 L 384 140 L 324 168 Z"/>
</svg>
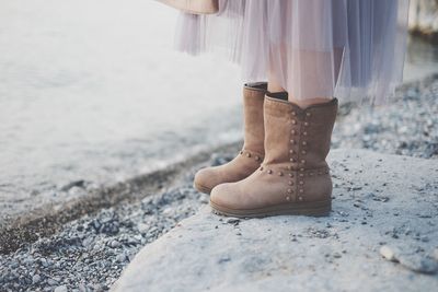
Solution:
<svg viewBox="0 0 438 292">
<path fill-rule="evenodd" d="M 222 51 L 245 81 L 272 80 L 304 100 L 387 101 L 402 80 L 408 0 L 219 0 L 182 13 L 176 46 Z"/>
</svg>

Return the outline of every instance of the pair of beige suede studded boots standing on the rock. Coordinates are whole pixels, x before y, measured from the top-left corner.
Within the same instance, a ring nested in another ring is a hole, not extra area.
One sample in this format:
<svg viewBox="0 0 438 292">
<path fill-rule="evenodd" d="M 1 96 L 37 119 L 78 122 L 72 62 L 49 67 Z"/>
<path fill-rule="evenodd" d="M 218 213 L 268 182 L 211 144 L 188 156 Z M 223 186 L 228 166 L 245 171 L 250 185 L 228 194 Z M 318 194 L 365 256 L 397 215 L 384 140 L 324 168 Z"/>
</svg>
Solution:
<svg viewBox="0 0 438 292">
<path fill-rule="evenodd" d="M 298 105 L 266 83 L 243 89 L 244 144 L 229 163 L 200 170 L 195 188 L 210 194 L 216 213 L 232 217 L 325 215 L 332 179 L 325 162 L 337 100 Z"/>
</svg>

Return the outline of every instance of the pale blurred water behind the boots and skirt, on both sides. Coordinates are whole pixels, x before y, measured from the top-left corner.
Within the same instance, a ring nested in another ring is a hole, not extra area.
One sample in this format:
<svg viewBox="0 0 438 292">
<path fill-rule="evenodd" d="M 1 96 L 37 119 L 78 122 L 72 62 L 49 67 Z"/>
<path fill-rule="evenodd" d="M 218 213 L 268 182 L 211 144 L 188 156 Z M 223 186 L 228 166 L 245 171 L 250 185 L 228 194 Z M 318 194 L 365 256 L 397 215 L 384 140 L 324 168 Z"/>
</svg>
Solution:
<svg viewBox="0 0 438 292">
<path fill-rule="evenodd" d="M 124 180 L 240 138 L 239 68 L 173 50 L 176 12 L 146 0 L 0 3 L 0 212 Z M 410 43 L 406 80 L 437 70 Z"/>
</svg>

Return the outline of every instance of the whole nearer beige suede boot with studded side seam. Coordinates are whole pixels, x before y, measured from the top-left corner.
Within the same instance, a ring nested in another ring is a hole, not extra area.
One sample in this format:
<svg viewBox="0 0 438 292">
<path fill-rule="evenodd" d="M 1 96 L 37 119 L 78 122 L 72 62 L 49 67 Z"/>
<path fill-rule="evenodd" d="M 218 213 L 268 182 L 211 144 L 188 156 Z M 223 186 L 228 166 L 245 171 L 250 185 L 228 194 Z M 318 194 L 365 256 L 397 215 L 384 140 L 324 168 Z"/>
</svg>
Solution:
<svg viewBox="0 0 438 292">
<path fill-rule="evenodd" d="M 325 157 L 336 113 L 336 98 L 302 109 L 266 96 L 265 160 L 245 179 L 215 187 L 214 211 L 247 218 L 327 214 L 332 179 Z"/>
</svg>

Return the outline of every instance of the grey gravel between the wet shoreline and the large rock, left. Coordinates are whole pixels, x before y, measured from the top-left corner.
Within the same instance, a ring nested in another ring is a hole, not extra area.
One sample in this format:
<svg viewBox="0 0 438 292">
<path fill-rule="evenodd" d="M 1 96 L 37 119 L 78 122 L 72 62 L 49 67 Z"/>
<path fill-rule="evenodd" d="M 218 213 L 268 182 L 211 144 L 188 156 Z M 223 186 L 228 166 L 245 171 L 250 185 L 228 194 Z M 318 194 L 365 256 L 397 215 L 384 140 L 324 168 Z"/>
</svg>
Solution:
<svg viewBox="0 0 438 292">
<path fill-rule="evenodd" d="M 177 188 L 88 214 L 49 238 L 0 255 L 0 291 L 108 290 L 142 246 L 208 202 L 192 179 L 193 173 Z"/>
</svg>

